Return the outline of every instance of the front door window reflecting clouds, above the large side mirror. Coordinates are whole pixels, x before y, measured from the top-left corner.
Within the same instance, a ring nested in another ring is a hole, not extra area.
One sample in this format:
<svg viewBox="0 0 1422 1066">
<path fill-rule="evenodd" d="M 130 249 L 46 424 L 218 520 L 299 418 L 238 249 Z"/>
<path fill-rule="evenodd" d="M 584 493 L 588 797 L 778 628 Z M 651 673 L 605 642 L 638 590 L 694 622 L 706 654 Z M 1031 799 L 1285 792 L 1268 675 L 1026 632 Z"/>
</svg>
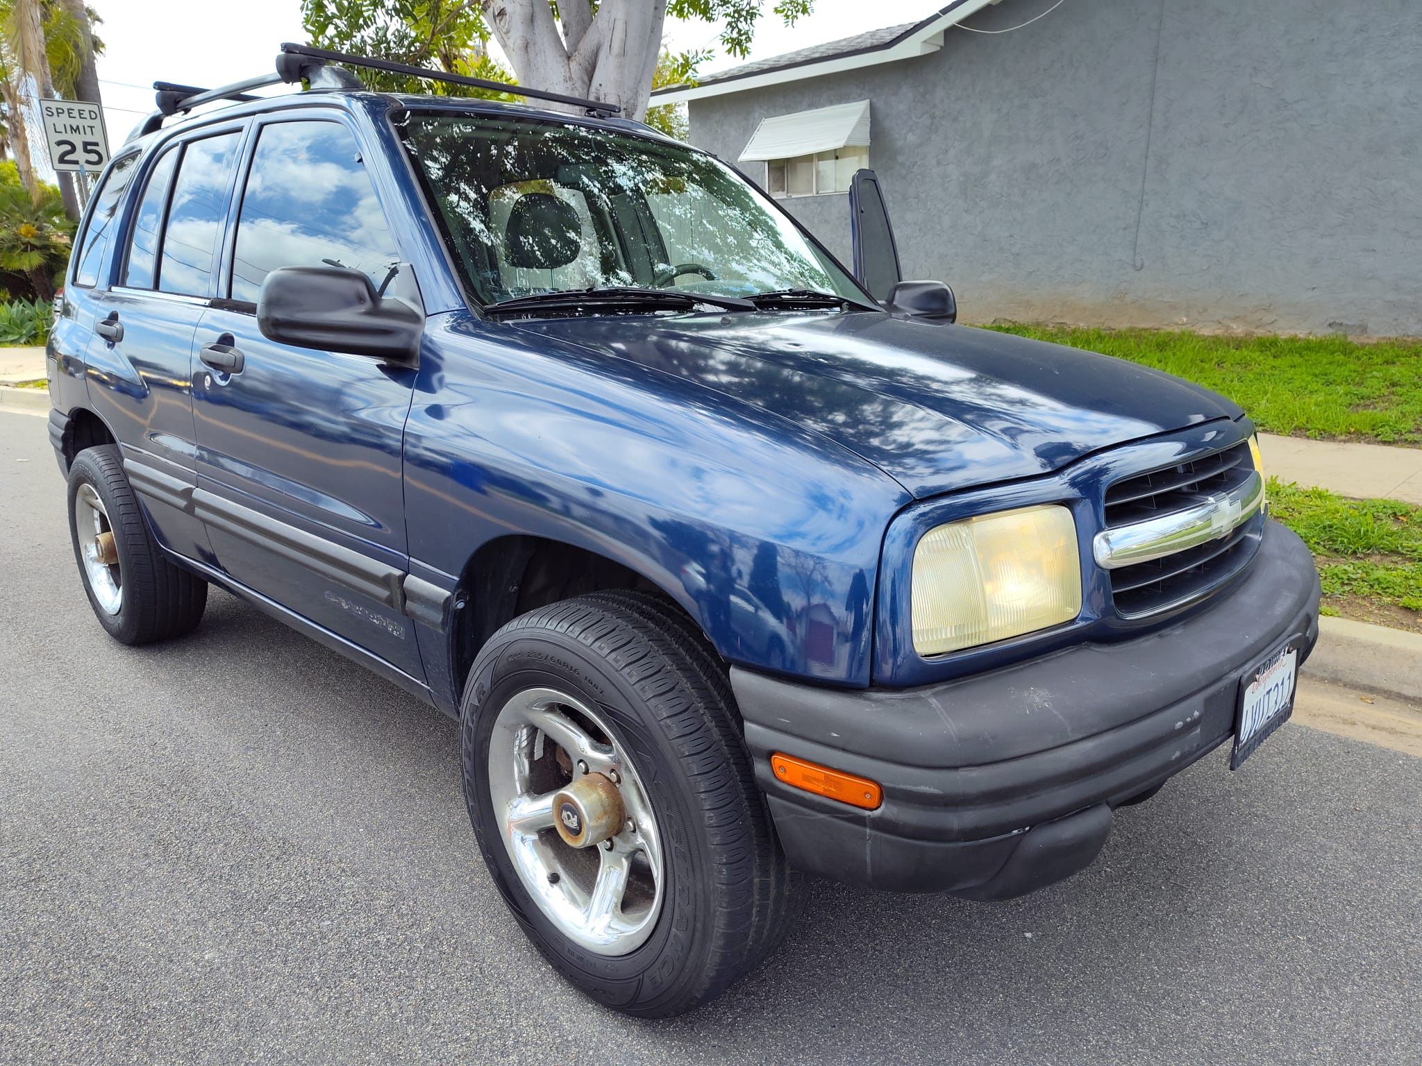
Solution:
<svg viewBox="0 0 1422 1066">
<path fill-rule="evenodd" d="M 286 266 L 341 266 L 378 289 L 400 260 L 356 138 L 336 122 L 262 128 L 237 220 L 232 298 Z"/>
</svg>

